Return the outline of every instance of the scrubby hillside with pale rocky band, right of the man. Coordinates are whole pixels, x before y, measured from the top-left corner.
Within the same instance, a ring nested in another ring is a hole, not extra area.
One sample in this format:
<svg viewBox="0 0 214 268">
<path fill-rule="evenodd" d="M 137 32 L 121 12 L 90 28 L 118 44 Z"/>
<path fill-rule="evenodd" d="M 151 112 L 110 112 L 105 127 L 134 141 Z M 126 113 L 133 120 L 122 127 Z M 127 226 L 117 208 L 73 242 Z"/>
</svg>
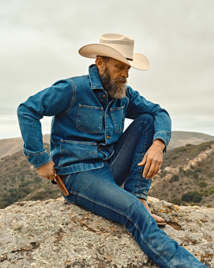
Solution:
<svg viewBox="0 0 214 268">
<path fill-rule="evenodd" d="M 150 196 L 179 206 L 214 207 L 214 141 L 169 150 L 152 180 Z"/>
</svg>

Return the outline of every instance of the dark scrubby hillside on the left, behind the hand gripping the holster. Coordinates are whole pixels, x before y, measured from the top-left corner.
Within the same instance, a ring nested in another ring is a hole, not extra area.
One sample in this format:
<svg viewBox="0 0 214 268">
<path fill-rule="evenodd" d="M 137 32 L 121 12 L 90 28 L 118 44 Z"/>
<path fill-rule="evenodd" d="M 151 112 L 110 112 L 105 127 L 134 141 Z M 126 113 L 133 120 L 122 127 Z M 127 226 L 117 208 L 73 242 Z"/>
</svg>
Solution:
<svg viewBox="0 0 214 268">
<path fill-rule="evenodd" d="M 44 147 L 50 151 L 49 144 Z M 0 159 L 0 185 L 0 209 L 14 202 L 61 196 L 59 187 L 38 175 L 22 151 Z"/>
</svg>

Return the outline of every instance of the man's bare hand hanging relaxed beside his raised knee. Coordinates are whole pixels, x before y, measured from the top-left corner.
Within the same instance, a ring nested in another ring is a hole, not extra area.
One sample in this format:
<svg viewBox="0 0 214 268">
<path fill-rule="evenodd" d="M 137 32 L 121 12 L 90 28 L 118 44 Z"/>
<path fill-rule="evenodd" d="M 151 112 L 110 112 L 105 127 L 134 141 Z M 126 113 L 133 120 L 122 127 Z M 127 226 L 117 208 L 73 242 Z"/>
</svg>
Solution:
<svg viewBox="0 0 214 268">
<path fill-rule="evenodd" d="M 145 153 L 143 160 L 138 164 L 138 166 L 145 165 L 143 171 L 144 178 L 146 177 L 146 179 L 151 179 L 158 173 L 163 160 L 164 148 L 165 143 L 161 139 L 156 139 L 149 150 Z"/>
</svg>

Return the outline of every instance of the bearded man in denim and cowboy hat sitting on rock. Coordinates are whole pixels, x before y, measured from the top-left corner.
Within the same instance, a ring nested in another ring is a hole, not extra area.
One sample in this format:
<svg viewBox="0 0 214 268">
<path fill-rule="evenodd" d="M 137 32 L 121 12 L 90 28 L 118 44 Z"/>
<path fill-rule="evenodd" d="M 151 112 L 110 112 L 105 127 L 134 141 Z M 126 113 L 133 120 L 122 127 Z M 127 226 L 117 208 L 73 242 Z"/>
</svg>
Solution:
<svg viewBox="0 0 214 268">
<path fill-rule="evenodd" d="M 52 183 L 54 173 L 61 175 L 68 202 L 125 225 L 160 267 L 206 267 L 158 228 L 166 223 L 147 205 L 171 120 L 166 110 L 126 85 L 131 67 L 149 69 L 148 59 L 133 50 L 133 38 L 103 34 L 99 44 L 79 50 L 96 58 L 89 75 L 60 80 L 20 104 L 25 157 Z M 53 116 L 51 157 L 42 143 L 43 116 Z M 125 117 L 134 121 L 123 133 Z"/>
</svg>

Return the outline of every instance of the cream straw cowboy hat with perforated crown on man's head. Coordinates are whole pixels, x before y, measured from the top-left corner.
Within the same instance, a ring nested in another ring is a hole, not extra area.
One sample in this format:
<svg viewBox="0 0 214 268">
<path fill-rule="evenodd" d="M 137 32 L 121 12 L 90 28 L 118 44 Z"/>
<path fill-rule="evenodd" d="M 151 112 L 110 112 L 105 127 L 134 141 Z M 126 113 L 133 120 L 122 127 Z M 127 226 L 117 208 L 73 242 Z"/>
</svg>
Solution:
<svg viewBox="0 0 214 268">
<path fill-rule="evenodd" d="M 111 57 L 122 61 L 135 69 L 148 70 L 149 60 L 146 56 L 134 52 L 134 39 L 123 34 L 102 34 L 99 44 L 89 44 L 79 50 L 86 58 L 96 59 L 96 56 Z"/>
</svg>

